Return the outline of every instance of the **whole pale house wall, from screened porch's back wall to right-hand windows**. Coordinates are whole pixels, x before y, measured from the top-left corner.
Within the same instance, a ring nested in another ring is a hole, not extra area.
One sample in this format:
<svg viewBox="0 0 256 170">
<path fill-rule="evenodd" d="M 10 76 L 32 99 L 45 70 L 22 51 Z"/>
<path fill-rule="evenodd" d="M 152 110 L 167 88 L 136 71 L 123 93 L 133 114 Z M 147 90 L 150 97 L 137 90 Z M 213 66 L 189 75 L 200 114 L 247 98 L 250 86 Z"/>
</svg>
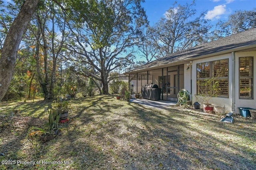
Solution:
<svg viewBox="0 0 256 170">
<path fill-rule="evenodd" d="M 253 99 L 239 99 L 239 57 L 253 57 Z M 234 58 L 234 61 L 233 61 Z M 214 104 L 215 106 L 225 106 L 226 112 L 231 112 L 235 109 L 235 113 L 239 114 L 240 111 L 238 107 L 250 107 L 256 108 L 256 51 L 243 51 L 243 52 L 234 52 L 234 53 L 226 53 L 222 55 L 215 55 L 212 57 L 206 57 L 202 59 L 196 59 L 192 61 L 187 61 L 180 67 L 180 74 L 184 73 L 184 78 L 180 77 L 180 82 L 184 84 L 184 88 L 191 92 L 192 94 L 192 103 L 198 101 L 201 105 L 203 104 L 202 101 L 196 99 L 195 94 L 197 93 L 197 74 L 196 74 L 196 65 L 198 63 L 208 62 L 208 61 L 216 61 L 221 59 L 228 59 L 228 97 L 212 97 L 210 103 Z M 174 66 L 175 67 L 175 66 Z M 168 71 L 174 69 L 174 67 L 168 67 Z M 183 68 L 184 67 L 184 68 Z M 233 73 L 233 69 L 235 72 Z M 159 77 L 162 76 L 162 69 L 156 69 L 149 71 L 150 75 L 152 75 L 152 80 L 148 83 L 153 83 L 159 85 Z M 170 74 L 172 74 L 170 72 Z M 170 75 L 168 73 L 168 75 Z M 163 75 L 167 75 L 167 69 L 164 67 Z M 232 77 L 235 77 L 232 80 Z M 172 81 L 172 80 L 171 80 Z M 232 87 L 232 83 L 234 82 L 234 87 Z M 136 80 L 133 80 L 134 84 L 134 92 L 136 91 Z M 142 86 L 146 84 L 146 81 L 138 81 L 138 92 L 141 90 Z M 172 84 L 171 84 L 172 87 Z M 162 88 L 162 87 L 159 87 Z M 234 91 L 232 92 L 232 89 Z M 232 96 L 234 95 L 234 96 Z M 162 99 L 162 95 L 161 98 Z M 169 100 L 166 97 L 166 94 L 163 96 L 164 100 Z M 233 103 L 233 105 L 232 105 Z M 232 109 L 233 108 L 233 109 Z"/>
</svg>

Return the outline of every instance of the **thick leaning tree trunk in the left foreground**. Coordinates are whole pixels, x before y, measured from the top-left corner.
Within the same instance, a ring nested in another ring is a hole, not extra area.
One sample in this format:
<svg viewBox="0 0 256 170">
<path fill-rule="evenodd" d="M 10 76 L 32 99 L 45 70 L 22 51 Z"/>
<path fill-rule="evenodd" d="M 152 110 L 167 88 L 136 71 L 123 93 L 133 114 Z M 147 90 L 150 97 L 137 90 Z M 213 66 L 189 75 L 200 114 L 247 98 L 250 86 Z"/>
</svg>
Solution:
<svg viewBox="0 0 256 170">
<path fill-rule="evenodd" d="M 24 2 L 18 16 L 10 26 L 10 30 L 4 41 L 0 58 L 0 101 L 3 99 L 10 85 L 22 35 L 32 15 L 36 11 L 38 2 L 39 0 L 26 0 Z"/>
</svg>

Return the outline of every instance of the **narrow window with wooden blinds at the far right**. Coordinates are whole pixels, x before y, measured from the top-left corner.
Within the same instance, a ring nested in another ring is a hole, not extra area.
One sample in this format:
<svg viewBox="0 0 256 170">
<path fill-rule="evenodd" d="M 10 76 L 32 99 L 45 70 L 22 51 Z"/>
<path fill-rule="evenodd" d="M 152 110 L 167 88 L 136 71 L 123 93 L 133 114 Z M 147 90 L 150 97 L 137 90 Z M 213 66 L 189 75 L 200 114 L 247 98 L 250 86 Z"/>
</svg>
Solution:
<svg viewBox="0 0 256 170">
<path fill-rule="evenodd" d="M 239 58 L 239 99 L 253 99 L 253 57 Z"/>
</svg>

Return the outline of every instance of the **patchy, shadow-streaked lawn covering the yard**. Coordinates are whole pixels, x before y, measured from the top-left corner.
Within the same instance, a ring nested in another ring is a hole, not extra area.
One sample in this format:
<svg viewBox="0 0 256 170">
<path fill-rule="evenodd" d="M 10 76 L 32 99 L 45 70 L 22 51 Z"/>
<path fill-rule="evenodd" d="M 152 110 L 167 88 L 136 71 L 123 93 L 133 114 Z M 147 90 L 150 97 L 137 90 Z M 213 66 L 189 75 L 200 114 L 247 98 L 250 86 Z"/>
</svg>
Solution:
<svg viewBox="0 0 256 170">
<path fill-rule="evenodd" d="M 236 115 L 234 123 L 222 123 L 223 116 L 174 107 L 152 109 L 110 95 L 69 102 L 70 121 L 45 143 L 29 138 L 28 129 L 44 123 L 49 103 L 0 103 L 0 114 L 7 115 L 0 117 L 0 160 L 16 161 L 1 163 L 0 169 L 256 167 L 256 122 L 251 119 Z M 14 107 L 21 116 L 10 118 Z M 18 160 L 35 164 L 17 165 Z"/>
</svg>

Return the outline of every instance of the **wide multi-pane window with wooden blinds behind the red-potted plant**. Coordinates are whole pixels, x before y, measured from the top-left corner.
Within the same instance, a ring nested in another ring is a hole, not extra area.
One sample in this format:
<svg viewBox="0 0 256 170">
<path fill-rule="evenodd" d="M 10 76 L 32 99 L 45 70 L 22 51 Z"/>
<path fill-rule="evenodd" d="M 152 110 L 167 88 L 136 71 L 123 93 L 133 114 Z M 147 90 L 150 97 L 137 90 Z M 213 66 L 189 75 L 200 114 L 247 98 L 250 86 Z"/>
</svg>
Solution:
<svg viewBox="0 0 256 170">
<path fill-rule="evenodd" d="M 213 84 L 218 83 L 217 97 L 228 97 L 228 59 L 198 63 L 196 65 L 197 93 L 200 94 L 202 85 L 208 79 L 214 79 Z M 209 88 L 210 90 L 210 88 Z"/>
</svg>

